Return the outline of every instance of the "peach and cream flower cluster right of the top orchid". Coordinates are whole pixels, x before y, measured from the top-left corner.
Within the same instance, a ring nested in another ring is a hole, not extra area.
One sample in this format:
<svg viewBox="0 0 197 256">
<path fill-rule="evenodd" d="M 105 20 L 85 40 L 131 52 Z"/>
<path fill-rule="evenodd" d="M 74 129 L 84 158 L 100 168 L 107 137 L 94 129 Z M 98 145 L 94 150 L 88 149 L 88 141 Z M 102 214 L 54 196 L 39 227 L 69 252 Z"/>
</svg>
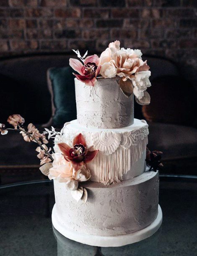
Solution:
<svg viewBox="0 0 197 256">
<path fill-rule="evenodd" d="M 139 49 L 124 49 L 120 48 L 119 41 L 111 42 L 109 47 L 101 53 L 100 64 L 100 74 L 103 77 L 119 76 L 124 82 L 130 80 L 132 83 L 127 83 L 127 85 L 131 88 L 126 92 L 133 92 L 137 103 L 141 105 L 150 103 L 150 95 L 146 92 L 147 87 L 151 86 L 150 67 L 147 61 L 142 60 L 142 52 Z"/>
</svg>

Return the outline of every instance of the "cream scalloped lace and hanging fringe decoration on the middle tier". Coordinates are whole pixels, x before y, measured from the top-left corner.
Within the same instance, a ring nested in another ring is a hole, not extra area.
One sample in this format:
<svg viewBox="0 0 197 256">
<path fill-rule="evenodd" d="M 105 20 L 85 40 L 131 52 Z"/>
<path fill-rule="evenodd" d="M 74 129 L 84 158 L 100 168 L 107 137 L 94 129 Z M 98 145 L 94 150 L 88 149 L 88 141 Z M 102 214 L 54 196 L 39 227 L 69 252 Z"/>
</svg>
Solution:
<svg viewBox="0 0 197 256">
<path fill-rule="evenodd" d="M 82 132 L 89 150 L 99 150 L 96 157 L 87 164 L 93 180 L 109 185 L 122 180 L 124 174 L 132 169 L 132 165 L 140 160 L 148 144 L 148 124 L 125 132 Z M 72 146 L 73 137 L 80 131 L 65 124 L 62 129 L 61 142 Z M 55 140 L 54 143 L 60 141 Z M 55 152 L 58 150 L 54 146 Z"/>
</svg>

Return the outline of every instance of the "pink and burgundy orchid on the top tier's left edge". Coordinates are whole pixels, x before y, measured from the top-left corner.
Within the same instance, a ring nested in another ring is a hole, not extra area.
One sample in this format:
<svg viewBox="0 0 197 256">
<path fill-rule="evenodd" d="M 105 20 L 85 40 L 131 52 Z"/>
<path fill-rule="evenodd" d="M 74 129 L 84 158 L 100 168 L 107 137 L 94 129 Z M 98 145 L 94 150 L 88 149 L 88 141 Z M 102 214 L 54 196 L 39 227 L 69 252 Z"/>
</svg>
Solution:
<svg viewBox="0 0 197 256">
<path fill-rule="evenodd" d="M 101 69 L 101 66 L 99 65 L 99 56 L 94 54 L 86 57 L 84 60 L 82 59 L 82 61 L 84 62 L 84 65 L 79 60 L 70 58 L 70 66 L 79 73 L 73 73 L 73 75 L 86 85 L 94 86 L 96 77 Z"/>
</svg>

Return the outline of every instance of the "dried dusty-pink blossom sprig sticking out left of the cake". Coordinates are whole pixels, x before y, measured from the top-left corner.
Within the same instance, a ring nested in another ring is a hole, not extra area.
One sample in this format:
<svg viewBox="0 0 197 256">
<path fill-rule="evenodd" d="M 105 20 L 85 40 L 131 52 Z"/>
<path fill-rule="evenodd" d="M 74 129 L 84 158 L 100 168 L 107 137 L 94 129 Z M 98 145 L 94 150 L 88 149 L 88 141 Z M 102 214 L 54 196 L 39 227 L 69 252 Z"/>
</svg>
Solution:
<svg viewBox="0 0 197 256">
<path fill-rule="evenodd" d="M 51 149 L 48 150 L 47 146 L 45 144 L 48 143 L 48 140 L 46 139 L 46 136 L 44 134 L 41 134 L 39 130 L 35 127 L 34 124 L 28 125 L 28 130 L 26 131 L 23 128 L 23 124 L 25 122 L 25 119 L 18 115 L 14 114 L 8 117 L 8 123 L 11 124 L 13 128 L 6 128 L 5 124 L 0 124 L 0 132 L 1 135 L 5 135 L 8 133 L 8 130 L 14 130 L 21 133 L 23 136 L 23 139 L 26 142 L 35 142 L 39 145 L 38 148 L 36 148 L 36 151 L 39 152 L 38 158 L 41 159 L 40 164 L 49 163 L 50 161 L 53 161 L 52 155 L 49 153 Z"/>
</svg>

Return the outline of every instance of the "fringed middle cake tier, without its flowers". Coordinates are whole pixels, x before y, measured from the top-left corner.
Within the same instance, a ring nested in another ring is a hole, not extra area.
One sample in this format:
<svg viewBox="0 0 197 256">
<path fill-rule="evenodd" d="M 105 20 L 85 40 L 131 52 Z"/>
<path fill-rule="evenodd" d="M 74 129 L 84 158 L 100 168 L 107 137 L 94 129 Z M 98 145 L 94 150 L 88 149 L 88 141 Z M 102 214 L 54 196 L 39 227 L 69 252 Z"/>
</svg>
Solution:
<svg viewBox="0 0 197 256">
<path fill-rule="evenodd" d="M 72 147 L 74 137 L 81 133 L 89 150 L 99 150 L 96 157 L 86 164 L 91 181 L 108 185 L 145 172 L 148 124 L 144 120 L 134 119 L 134 124 L 117 129 L 87 128 L 74 120 L 65 124 L 62 133 L 61 141 L 56 139 L 55 144 L 65 142 Z"/>
</svg>

